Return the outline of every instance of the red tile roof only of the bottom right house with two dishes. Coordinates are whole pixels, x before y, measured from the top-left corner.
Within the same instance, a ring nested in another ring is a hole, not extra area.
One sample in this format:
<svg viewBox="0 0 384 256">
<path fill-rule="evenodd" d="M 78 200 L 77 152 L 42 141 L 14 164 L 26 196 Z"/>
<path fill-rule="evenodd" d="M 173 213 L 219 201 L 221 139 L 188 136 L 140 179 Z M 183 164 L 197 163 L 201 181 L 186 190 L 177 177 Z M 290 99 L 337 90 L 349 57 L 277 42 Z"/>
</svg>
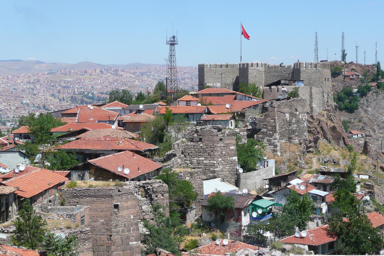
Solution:
<svg viewBox="0 0 384 256">
<path fill-rule="evenodd" d="M 286 238 L 278 240 L 283 243 L 290 244 L 308 244 L 308 245 L 320 245 L 337 240 L 337 236 L 331 236 L 328 234 L 328 225 L 319 226 L 307 230 L 306 237 L 300 235 L 300 237 L 288 236 Z"/>
</svg>

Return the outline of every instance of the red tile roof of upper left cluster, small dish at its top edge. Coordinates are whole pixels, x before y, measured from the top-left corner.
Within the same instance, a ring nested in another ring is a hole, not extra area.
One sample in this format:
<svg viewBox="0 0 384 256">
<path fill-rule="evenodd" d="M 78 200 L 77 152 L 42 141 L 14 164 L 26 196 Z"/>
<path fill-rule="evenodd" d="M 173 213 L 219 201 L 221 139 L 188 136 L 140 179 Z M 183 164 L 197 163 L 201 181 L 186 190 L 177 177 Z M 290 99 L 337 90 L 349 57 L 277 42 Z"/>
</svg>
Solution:
<svg viewBox="0 0 384 256">
<path fill-rule="evenodd" d="M 96 123 L 98 121 L 114 121 L 120 114 L 106 109 L 81 108 L 77 114 L 78 123 Z"/>
</svg>

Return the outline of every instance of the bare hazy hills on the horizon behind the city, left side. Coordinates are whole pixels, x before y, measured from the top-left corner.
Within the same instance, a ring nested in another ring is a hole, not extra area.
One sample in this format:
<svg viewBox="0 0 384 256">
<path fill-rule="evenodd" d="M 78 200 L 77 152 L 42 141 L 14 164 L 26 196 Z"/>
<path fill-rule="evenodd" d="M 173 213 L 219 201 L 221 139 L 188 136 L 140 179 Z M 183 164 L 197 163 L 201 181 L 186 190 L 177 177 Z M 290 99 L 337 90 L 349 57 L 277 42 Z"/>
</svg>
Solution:
<svg viewBox="0 0 384 256">
<path fill-rule="evenodd" d="M 0 76 L 13 76 L 40 72 L 56 72 L 60 69 L 93 69 L 93 68 L 121 68 L 134 69 L 143 66 L 165 66 L 157 64 L 129 63 L 129 64 L 110 64 L 103 65 L 89 61 L 83 61 L 76 64 L 68 63 L 45 63 L 43 61 L 23 61 L 20 59 L 10 59 L 0 61 Z"/>
</svg>

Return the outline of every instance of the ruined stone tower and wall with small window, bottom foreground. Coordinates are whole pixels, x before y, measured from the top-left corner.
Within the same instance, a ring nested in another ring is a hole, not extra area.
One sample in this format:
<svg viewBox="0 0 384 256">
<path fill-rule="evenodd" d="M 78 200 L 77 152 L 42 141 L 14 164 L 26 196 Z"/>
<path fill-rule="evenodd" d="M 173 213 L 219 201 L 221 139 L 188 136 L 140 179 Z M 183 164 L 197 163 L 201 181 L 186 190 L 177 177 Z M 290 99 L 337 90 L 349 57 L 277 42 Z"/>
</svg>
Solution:
<svg viewBox="0 0 384 256">
<path fill-rule="evenodd" d="M 160 203 L 169 216 L 168 186 L 160 180 L 124 182 L 124 187 L 61 189 L 65 205 L 89 206 L 94 256 L 140 256 L 139 223 L 152 220 Z"/>
</svg>

